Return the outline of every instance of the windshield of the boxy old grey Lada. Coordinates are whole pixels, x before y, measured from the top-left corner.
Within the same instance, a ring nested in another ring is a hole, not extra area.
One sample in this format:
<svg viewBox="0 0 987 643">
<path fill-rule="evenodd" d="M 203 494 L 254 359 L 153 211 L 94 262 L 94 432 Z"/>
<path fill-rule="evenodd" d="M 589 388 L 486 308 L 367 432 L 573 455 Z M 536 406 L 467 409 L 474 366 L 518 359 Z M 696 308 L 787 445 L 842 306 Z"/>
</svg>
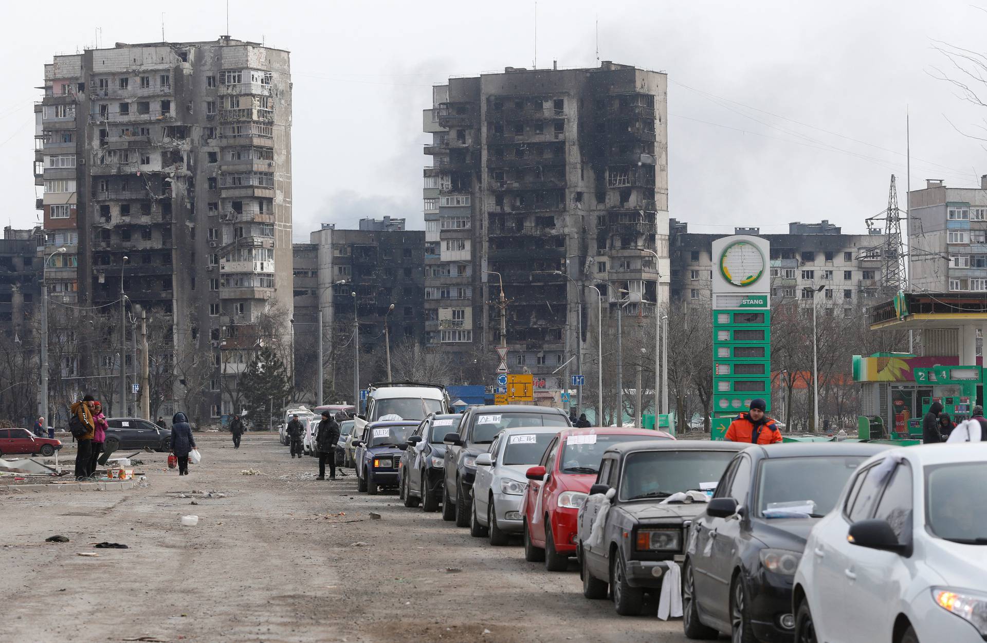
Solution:
<svg viewBox="0 0 987 643">
<path fill-rule="evenodd" d="M 734 451 L 645 451 L 629 454 L 620 499 L 667 498 L 679 491 L 716 486 Z"/>
</svg>

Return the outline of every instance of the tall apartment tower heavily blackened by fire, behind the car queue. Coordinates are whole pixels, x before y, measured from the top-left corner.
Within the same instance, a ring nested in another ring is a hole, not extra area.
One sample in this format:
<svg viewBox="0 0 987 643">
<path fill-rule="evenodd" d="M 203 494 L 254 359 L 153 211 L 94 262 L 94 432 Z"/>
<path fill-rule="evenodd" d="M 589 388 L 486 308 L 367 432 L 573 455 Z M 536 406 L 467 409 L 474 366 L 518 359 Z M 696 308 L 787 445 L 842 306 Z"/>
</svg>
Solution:
<svg viewBox="0 0 987 643">
<path fill-rule="evenodd" d="M 428 344 L 458 360 L 492 352 L 502 280 L 508 368 L 557 389 L 596 334 L 590 286 L 610 304 L 604 324 L 622 302 L 637 313 L 643 301 L 651 315 L 659 293 L 665 301 L 666 82 L 603 61 L 433 88 L 423 113 Z"/>
</svg>

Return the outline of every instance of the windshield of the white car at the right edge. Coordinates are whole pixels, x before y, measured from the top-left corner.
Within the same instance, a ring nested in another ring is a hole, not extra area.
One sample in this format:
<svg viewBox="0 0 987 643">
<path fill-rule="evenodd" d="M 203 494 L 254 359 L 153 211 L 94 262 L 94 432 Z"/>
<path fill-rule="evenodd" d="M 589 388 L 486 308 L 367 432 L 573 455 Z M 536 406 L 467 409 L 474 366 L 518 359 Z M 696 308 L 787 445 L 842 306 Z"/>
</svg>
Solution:
<svg viewBox="0 0 987 643">
<path fill-rule="evenodd" d="M 926 524 L 941 538 L 987 544 L 987 463 L 926 467 Z"/>
</svg>

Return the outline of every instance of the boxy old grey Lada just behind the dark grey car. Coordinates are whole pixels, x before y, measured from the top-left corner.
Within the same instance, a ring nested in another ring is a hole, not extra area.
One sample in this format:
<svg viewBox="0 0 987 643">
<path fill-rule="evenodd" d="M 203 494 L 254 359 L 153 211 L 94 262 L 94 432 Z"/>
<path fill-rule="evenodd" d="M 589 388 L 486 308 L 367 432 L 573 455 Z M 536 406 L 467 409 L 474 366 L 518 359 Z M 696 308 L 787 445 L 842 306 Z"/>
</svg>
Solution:
<svg viewBox="0 0 987 643">
<path fill-rule="evenodd" d="M 579 511 L 576 555 L 583 596 L 604 599 L 609 586 L 617 613 L 640 614 L 645 592 L 661 588 L 666 561 L 684 559 L 686 532 L 706 510 L 706 491 L 736 452 L 749 446 L 681 440 L 608 449 Z M 679 492 L 686 497 L 678 500 Z M 591 537 L 601 509 L 606 515 Z"/>
</svg>

